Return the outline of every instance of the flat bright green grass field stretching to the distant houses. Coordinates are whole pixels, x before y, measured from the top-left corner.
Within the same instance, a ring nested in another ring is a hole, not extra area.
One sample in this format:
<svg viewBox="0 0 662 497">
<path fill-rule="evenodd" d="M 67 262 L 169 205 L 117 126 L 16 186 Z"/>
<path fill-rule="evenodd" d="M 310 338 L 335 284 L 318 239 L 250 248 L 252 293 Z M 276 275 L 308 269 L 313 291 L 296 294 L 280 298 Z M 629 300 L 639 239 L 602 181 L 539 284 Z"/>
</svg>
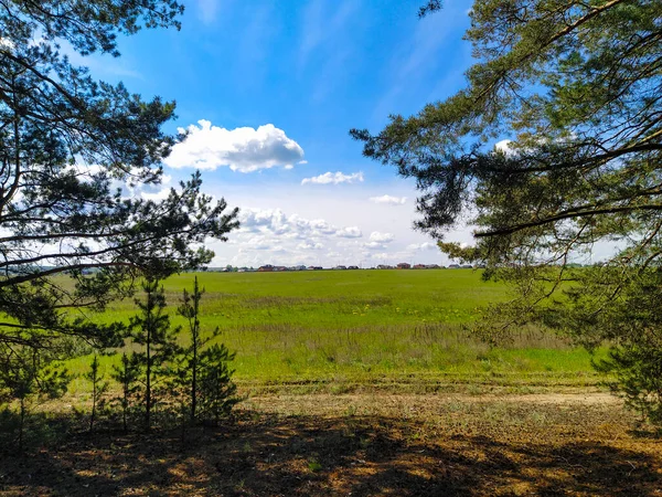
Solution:
<svg viewBox="0 0 662 497">
<path fill-rule="evenodd" d="M 508 298 L 471 269 L 200 273 L 203 328 L 220 327 L 237 352 L 246 389 L 289 385 L 342 392 L 357 388 L 436 391 L 468 385 L 595 384 L 590 356 L 538 329 L 508 348 L 478 342 L 462 325 Z M 192 274 L 164 282 L 172 324 Z M 127 320 L 132 300 L 102 320 Z M 182 340 L 184 340 L 182 336 Z M 107 361 L 113 361 L 108 358 Z M 71 363 L 86 369 L 87 360 Z M 450 385 L 450 387 L 449 387 Z M 78 384 L 78 388 L 84 388 Z M 76 384 L 74 384 L 74 390 Z"/>
</svg>

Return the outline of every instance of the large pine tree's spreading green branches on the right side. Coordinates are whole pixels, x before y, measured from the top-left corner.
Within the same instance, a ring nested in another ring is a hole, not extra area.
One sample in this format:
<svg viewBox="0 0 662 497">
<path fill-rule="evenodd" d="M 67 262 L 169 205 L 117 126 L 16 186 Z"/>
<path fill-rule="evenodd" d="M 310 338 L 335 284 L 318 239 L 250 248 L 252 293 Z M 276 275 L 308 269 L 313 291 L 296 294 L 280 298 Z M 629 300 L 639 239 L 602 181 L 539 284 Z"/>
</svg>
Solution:
<svg viewBox="0 0 662 497">
<path fill-rule="evenodd" d="M 377 135 L 351 133 L 365 156 L 416 180 L 417 228 L 441 240 L 458 223 L 477 226 L 474 246 L 440 247 L 516 290 L 479 325 L 483 337 L 537 320 L 589 346 L 610 340 L 607 369 L 632 403 L 650 400 L 653 416 L 662 2 L 477 0 L 470 15 L 477 61 L 465 89 L 393 116 Z M 599 265 L 596 247 L 608 253 Z"/>
</svg>

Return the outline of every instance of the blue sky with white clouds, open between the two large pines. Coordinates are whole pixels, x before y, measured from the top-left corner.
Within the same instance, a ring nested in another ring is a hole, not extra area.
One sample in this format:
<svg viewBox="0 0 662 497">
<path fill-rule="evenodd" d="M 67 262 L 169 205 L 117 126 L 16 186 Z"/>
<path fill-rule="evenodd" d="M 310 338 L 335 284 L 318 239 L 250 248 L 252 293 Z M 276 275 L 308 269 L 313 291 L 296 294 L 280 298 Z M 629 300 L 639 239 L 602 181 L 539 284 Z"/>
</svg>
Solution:
<svg viewBox="0 0 662 497">
<path fill-rule="evenodd" d="M 348 133 L 378 131 L 465 85 L 470 2 L 418 20 L 421 2 L 190 1 L 181 31 L 146 30 L 120 40 L 119 59 L 74 62 L 177 101 L 168 130 L 190 135 L 168 177 L 200 168 L 207 193 L 242 209 L 242 230 L 211 243 L 213 265 L 447 264 L 412 229 L 413 183 L 363 158 Z"/>
</svg>

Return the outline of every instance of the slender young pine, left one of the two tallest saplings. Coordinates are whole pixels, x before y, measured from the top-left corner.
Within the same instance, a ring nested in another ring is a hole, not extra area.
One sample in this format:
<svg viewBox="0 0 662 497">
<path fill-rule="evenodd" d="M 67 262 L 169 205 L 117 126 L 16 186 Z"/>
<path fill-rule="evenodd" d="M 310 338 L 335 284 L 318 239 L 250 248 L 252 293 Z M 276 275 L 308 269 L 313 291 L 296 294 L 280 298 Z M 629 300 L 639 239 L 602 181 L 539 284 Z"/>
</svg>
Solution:
<svg viewBox="0 0 662 497">
<path fill-rule="evenodd" d="M 156 384 L 162 376 L 170 373 L 169 362 L 181 352 L 177 345 L 179 329 L 170 327 L 170 317 L 166 314 L 166 295 L 156 278 L 142 284 L 145 300 L 136 299 L 140 314 L 131 318 L 129 338 L 134 343 L 143 346 L 143 350 L 134 353 L 140 368 L 143 385 L 142 409 L 145 426 L 150 430 L 154 405 Z"/>
</svg>

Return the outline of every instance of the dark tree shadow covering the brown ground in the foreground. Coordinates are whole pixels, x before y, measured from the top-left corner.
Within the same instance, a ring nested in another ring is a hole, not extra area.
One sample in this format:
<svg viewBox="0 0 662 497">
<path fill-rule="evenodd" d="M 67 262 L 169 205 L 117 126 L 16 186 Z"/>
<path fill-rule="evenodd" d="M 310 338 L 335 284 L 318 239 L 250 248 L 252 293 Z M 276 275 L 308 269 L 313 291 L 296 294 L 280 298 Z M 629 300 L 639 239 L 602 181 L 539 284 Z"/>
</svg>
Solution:
<svg viewBox="0 0 662 497">
<path fill-rule="evenodd" d="M 424 434 L 423 436 L 420 434 Z M 425 434 L 380 416 L 278 417 L 150 436 L 72 434 L 3 454 L 0 494 L 113 495 L 655 495 L 662 455 L 587 440 Z"/>
</svg>

